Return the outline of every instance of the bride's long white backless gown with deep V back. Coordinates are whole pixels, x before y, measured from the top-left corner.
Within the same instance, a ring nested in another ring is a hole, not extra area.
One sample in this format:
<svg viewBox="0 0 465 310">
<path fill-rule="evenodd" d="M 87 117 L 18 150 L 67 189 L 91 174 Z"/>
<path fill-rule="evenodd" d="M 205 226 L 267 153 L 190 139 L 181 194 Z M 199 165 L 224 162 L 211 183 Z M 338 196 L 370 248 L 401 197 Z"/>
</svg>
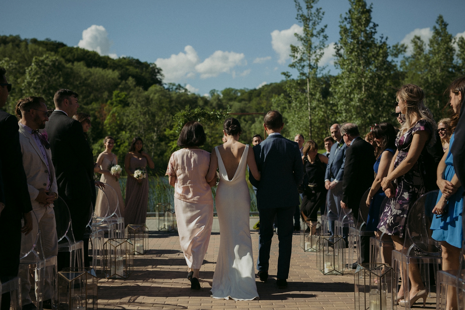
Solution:
<svg viewBox="0 0 465 310">
<path fill-rule="evenodd" d="M 215 151 L 220 174 L 215 196 L 220 242 L 213 275 L 212 297 L 258 299 L 249 226 L 250 194 L 246 182 L 249 145 L 246 145 L 232 180 L 228 178 L 218 146 Z"/>
</svg>

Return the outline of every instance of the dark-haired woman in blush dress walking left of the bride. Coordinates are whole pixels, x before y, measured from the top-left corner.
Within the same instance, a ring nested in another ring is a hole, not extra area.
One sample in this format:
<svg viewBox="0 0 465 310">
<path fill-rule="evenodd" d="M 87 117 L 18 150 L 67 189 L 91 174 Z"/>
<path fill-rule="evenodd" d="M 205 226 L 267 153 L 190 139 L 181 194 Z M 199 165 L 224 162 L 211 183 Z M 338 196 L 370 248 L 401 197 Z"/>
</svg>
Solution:
<svg viewBox="0 0 465 310">
<path fill-rule="evenodd" d="M 199 290 L 199 271 L 210 242 L 213 224 L 213 196 L 206 182 L 210 165 L 210 153 L 199 148 L 206 141 L 203 126 L 199 122 L 187 122 L 182 128 L 178 146 L 183 147 L 171 154 L 166 175 L 174 187 L 174 211 L 178 224 L 179 243 L 186 258 L 187 279 L 191 289 Z"/>
</svg>

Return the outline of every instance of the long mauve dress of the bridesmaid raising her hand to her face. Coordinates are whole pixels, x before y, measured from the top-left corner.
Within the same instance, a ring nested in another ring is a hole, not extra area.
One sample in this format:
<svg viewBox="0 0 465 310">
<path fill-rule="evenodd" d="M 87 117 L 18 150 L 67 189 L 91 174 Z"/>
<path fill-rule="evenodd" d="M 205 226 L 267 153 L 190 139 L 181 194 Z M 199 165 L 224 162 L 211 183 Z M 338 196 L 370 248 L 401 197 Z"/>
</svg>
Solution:
<svg viewBox="0 0 465 310">
<path fill-rule="evenodd" d="M 147 159 L 131 156 L 129 170 L 132 173 L 137 169 L 145 168 Z M 138 182 L 134 178 L 127 178 L 126 205 L 124 208 L 125 224 L 145 224 L 148 204 L 148 177 Z"/>
</svg>

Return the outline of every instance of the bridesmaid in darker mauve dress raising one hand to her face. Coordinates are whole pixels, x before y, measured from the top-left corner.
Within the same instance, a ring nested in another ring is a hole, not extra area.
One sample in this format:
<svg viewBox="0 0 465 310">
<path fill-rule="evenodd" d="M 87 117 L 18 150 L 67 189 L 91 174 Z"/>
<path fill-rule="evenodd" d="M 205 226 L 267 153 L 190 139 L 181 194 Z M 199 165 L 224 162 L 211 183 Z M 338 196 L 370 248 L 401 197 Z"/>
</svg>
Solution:
<svg viewBox="0 0 465 310">
<path fill-rule="evenodd" d="M 145 224 L 148 204 L 148 177 L 136 179 L 133 177 L 137 169 L 146 169 L 146 166 L 154 168 L 152 158 L 143 152 L 143 142 L 135 137 L 131 143 L 129 153 L 124 159 L 124 170 L 127 173 L 126 181 L 126 205 L 124 208 L 125 224 Z"/>
</svg>

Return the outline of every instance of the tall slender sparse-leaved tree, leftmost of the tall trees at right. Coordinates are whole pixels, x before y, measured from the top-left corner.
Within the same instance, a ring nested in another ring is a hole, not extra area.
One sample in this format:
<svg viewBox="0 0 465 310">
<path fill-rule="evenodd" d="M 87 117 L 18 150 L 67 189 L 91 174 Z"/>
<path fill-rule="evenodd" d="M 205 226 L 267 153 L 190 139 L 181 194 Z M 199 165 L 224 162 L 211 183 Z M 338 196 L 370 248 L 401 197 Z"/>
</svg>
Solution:
<svg viewBox="0 0 465 310">
<path fill-rule="evenodd" d="M 319 24 L 323 19 L 325 12 L 321 7 L 314 8 L 318 0 L 304 0 L 305 11 L 300 5 L 300 0 L 294 0 L 297 9 L 296 19 L 303 26 L 303 34 L 295 33 L 300 45 L 291 45 L 292 63 L 289 67 L 296 69 L 299 72 L 299 79 L 306 80 L 306 100 L 302 101 L 302 96 L 292 96 L 292 107 L 297 111 L 302 111 L 303 104 L 306 104 L 308 110 L 308 135 L 312 139 L 312 110 L 321 102 L 320 90 L 322 85 L 318 79 L 318 74 L 321 72 L 318 63 L 323 56 L 326 47 L 328 36 L 325 33 L 326 26 L 319 28 Z M 289 73 L 284 73 L 287 79 L 290 78 Z M 291 87 L 290 92 L 302 92 L 300 82 L 290 82 L 287 84 Z M 293 88 L 292 88 L 293 87 Z M 304 88 L 305 89 L 305 88 Z M 294 109 L 293 109 L 294 110 Z M 299 113 L 300 114 L 300 113 Z M 298 115 L 298 114 L 292 114 Z"/>
</svg>

